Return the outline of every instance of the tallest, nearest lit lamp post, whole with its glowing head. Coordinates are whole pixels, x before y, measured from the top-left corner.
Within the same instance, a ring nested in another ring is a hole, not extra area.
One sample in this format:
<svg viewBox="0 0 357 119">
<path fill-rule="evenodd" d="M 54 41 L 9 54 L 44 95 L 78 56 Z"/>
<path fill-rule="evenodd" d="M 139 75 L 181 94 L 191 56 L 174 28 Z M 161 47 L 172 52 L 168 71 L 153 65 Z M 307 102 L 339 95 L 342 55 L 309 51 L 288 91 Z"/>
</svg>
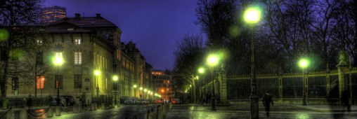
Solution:
<svg viewBox="0 0 357 119">
<path fill-rule="evenodd" d="M 255 62 L 254 62 L 254 29 L 253 25 L 259 22 L 260 10 L 258 7 L 250 7 L 244 13 L 245 22 L 252 27 L 252 79 L 250 80 L 251 95 L 250 99 L 250 118 L 259 118 L 259 103 L 257 96 L 257 80 L 255 79 Z"/>
</svg>

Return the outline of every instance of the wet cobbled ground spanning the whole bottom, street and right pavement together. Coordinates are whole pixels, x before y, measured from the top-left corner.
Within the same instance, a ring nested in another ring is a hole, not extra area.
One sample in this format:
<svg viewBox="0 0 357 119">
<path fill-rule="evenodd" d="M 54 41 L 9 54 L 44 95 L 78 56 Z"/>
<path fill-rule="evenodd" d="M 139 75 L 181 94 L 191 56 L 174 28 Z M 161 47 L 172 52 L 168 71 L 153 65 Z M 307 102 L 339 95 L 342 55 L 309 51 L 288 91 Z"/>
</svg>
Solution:
<svg viewBox="0 0 357 119">
<path fill-rule="evenodd" d="M 83 113 L 73 113 L 70 109 L 67 109 L 67 112 L 62 112 L 62 116 L 53 116 L 52 118 L 144 118 L 144 114 L 148 109 L 152 109 L 156 104 L 148 105 L 122 105 L 113 109 L 98 109 L 97 111 L 84 111 Z M 174 105 L 173 109 L 167 113 L 165 118 L 168 119 L 233 119 L 233 118 L 250 118 L 249 105 L 231 105 L 231 106 L 216 106 L 217 111 L 211 111 L 211 106 L 209 105 Z M 32 113 L 39 115 L 44 113 L 46 109 L 33 109 Z M 304 108 L 299 108 L 297 106 L 287 106 L 287 105 L 273 105 L 271 107 L 271 118 L 285 119 L 285 118 L 294 118 L 294 119 L 314 119 L 314 118 L 323 118 L 329 119 L 332 118 L 332 114 L 338 114 L 339 118 L 357 118 L 357 111 L 353 112 L 339 112 L 331 113 L 320 112 L 320 111 L 311 111 Z M 15 118 L 20 118 L 20 111 L 15 111 Z M 29 118 L 35 118 L 33 116 L 28 116 Z M 3 118 L 6 118 L 4 116 Z M 46 118 L 46 114 L 37 118 Z M 266 113 L 263 106 L 259 106 L 259 118 L 266 118 Z"/>
</svg>

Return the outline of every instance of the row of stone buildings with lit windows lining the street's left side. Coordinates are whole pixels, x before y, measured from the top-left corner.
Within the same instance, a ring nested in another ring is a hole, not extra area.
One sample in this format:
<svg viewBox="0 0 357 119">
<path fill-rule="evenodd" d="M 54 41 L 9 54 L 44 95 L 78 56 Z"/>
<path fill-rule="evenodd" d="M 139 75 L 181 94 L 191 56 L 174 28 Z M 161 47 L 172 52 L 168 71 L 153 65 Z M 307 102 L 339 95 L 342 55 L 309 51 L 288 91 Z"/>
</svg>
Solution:
<svg viewBox="0 0 357 119">
<path fill-rule="evenodd" d="M 56 97 L 58 88 L 60 95 L 84 98 L 87 104 L 91 97 L 100 96 L 174 97 L 171 73 L 153 71 L 135 43 L 121 42 L 119 27 L 100 14 L 95 17 L 81 17 L 78 13 L 74 18 L 65 16 L 65 8 L 58 6 L 42 10 L 46 25 L 38 31 L 45 35 L 34 42 L 39 49 L 49 47 L 35 52 L 36 69 L 39 70 L 35 72 L 37 80 L 29 85 L 23 83 L 26 81 L 21 76 L 8 78 L 11 83 L 8 97 L 34 95 L 35 90 L 37 97 L 40 97 L 39 90 L 41 97 Z"/>
</svg>

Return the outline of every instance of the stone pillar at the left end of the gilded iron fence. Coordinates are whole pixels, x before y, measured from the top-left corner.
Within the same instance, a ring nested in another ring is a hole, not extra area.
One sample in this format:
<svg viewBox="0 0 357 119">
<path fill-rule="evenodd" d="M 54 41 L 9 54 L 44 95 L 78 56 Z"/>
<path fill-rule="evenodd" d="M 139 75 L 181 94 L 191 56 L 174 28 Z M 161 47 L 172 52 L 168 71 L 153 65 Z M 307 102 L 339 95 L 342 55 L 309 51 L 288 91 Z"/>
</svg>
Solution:
<svg viewBox="0 0 357 119">
<path fill-rule="evenodd" d="M 227 101 L 227 73 L 226 71 L 224 71 L 223 69 L 221 70 L 221 72 L 219 73 L 219 76 L 220 76 L 220 80 L 221 80 L 221 83 L 220 83 L 220 99 L 221 99 L 221 104 L 227 104 L 228 101 Z"/>
</svg>

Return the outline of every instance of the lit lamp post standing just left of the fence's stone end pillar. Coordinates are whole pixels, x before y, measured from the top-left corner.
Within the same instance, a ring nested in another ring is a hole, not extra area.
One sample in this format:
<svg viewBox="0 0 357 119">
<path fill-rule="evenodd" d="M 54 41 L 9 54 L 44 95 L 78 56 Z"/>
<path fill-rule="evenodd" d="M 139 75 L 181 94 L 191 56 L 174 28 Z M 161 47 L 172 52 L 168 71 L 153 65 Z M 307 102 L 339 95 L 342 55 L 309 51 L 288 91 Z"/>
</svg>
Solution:
<svg viewBox="0 0 357 119">
<path fill-rule="evenodd" d="M 216 55 L 209 55 L 207 58 L 207 64 L 209 65 L 212 73 L 212 111 L 216 111 L 216 94 L 214 91 L 214 66 L 218 64 L 218 57 Z"/>
</svg>

